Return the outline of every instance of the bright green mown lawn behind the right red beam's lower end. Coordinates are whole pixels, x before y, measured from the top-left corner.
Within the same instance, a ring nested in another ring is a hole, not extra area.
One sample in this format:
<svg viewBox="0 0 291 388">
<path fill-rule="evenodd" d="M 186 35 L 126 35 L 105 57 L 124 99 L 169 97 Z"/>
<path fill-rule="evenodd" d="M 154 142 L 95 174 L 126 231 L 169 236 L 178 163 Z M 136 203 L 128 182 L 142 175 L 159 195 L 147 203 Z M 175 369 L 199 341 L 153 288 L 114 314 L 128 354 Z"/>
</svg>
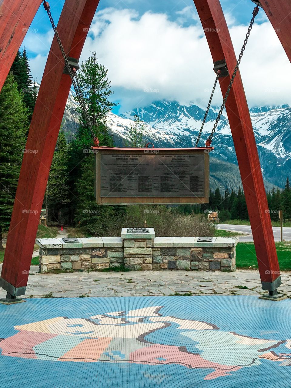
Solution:
<svg viewBox="0 0 291 388">
<path fill-rule="evenodd" d="M 276 242 L 277 254 L 280 269 L 291 270 L 291 242 Z M 236 246 L 236 267 L 237 268 L 258 268 L 255 245 L 253 242 L 239 242 Z"/>
</svg>

